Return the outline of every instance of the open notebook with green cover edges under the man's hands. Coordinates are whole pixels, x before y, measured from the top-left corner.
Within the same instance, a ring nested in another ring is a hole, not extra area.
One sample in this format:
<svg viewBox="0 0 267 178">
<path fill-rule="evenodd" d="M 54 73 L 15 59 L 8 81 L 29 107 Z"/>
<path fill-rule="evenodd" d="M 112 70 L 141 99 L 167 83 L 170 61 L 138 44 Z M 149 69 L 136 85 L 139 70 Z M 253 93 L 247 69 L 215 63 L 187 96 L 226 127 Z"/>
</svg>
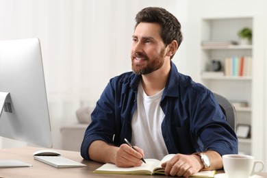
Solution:
<svg viewBox="0 0 267 178">
<path fill-rule="evenodd" d="M 97 168 L 93 173 L 105 173 L 105 174 L 123 174 L 123 175 L 164 175 L 164 168 L 162 163 L 170 160 L 175 154 L 166 155 L 161 161 L 155 159 L 144 159 L 146 164 L 142 166 L 131 168 L 120 168 L 115 164 L 106 163 L 103 166 Z M 214 177 L 216 170 L 203 170 L 199 173 L 195 173 L 190 177 Z"/>
</svg>

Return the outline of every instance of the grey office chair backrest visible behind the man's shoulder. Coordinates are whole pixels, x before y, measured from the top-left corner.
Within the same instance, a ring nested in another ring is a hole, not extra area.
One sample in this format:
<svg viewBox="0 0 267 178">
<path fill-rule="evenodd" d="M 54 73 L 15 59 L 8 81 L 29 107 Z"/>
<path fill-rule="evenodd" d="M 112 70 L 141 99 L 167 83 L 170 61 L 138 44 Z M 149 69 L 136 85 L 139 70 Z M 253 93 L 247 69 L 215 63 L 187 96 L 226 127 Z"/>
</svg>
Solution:
<svg viewBox="0 0 267 178">
<path fill-rule="evenodd" d="M 236 131 L 236 110 L 233 104 L 226 99 L 225 97 L 221 96 L 220 94 L 213 93 L 215 99 L 218 101 L 220 105 L 220 109 L 225 114 L 226 120 L 229 125 Z"/>
</svg>

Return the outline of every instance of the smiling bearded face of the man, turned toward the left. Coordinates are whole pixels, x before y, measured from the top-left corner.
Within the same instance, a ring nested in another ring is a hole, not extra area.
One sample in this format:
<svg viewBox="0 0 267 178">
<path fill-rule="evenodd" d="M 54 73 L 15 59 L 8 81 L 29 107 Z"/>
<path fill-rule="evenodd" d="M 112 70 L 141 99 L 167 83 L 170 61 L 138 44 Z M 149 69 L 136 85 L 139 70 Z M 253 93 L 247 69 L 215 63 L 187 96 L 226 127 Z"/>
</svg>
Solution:
<svg viewBox="0 0 267 178">
<path fill-rule="evenodd" d="M 138 75 L 157 71 L 164 64 L 166 47 L 157 23 L 140 23 L 133 33 L 131 68 Z"/>
</svg>

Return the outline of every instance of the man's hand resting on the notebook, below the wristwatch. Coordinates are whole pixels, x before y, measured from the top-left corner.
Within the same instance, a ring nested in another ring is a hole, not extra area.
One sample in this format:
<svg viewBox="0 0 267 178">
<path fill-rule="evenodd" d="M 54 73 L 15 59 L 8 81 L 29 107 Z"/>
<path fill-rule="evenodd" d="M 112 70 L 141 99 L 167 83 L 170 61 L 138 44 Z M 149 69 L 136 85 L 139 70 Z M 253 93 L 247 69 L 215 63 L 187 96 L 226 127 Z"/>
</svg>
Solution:
<svg viewBox="0 0 267 178">
<path fill-rule="evenodd" d="M 165 168 L 166 175 L 189 177 L 198 173 L 203 164 L 197 155 L 176 154 L 168 162 L 164 162 L 162 167 Z"/>
</svg>

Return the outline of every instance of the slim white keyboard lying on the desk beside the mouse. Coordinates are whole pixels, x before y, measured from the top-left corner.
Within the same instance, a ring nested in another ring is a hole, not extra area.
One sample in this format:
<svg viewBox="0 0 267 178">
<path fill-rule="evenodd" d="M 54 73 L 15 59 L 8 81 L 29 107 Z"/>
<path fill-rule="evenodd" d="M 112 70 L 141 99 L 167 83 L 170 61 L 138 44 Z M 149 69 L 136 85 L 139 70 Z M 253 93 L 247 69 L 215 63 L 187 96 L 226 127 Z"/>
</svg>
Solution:
<svg viewBox="0 0 267 178">
<path fill-rule="evenodd" d="M 34 156 L 34 160 L 44 162 L 55 168 L 77 168 L 86 166 L 86 164 L 81 164 L 62 156 Z"/>
</svg>

